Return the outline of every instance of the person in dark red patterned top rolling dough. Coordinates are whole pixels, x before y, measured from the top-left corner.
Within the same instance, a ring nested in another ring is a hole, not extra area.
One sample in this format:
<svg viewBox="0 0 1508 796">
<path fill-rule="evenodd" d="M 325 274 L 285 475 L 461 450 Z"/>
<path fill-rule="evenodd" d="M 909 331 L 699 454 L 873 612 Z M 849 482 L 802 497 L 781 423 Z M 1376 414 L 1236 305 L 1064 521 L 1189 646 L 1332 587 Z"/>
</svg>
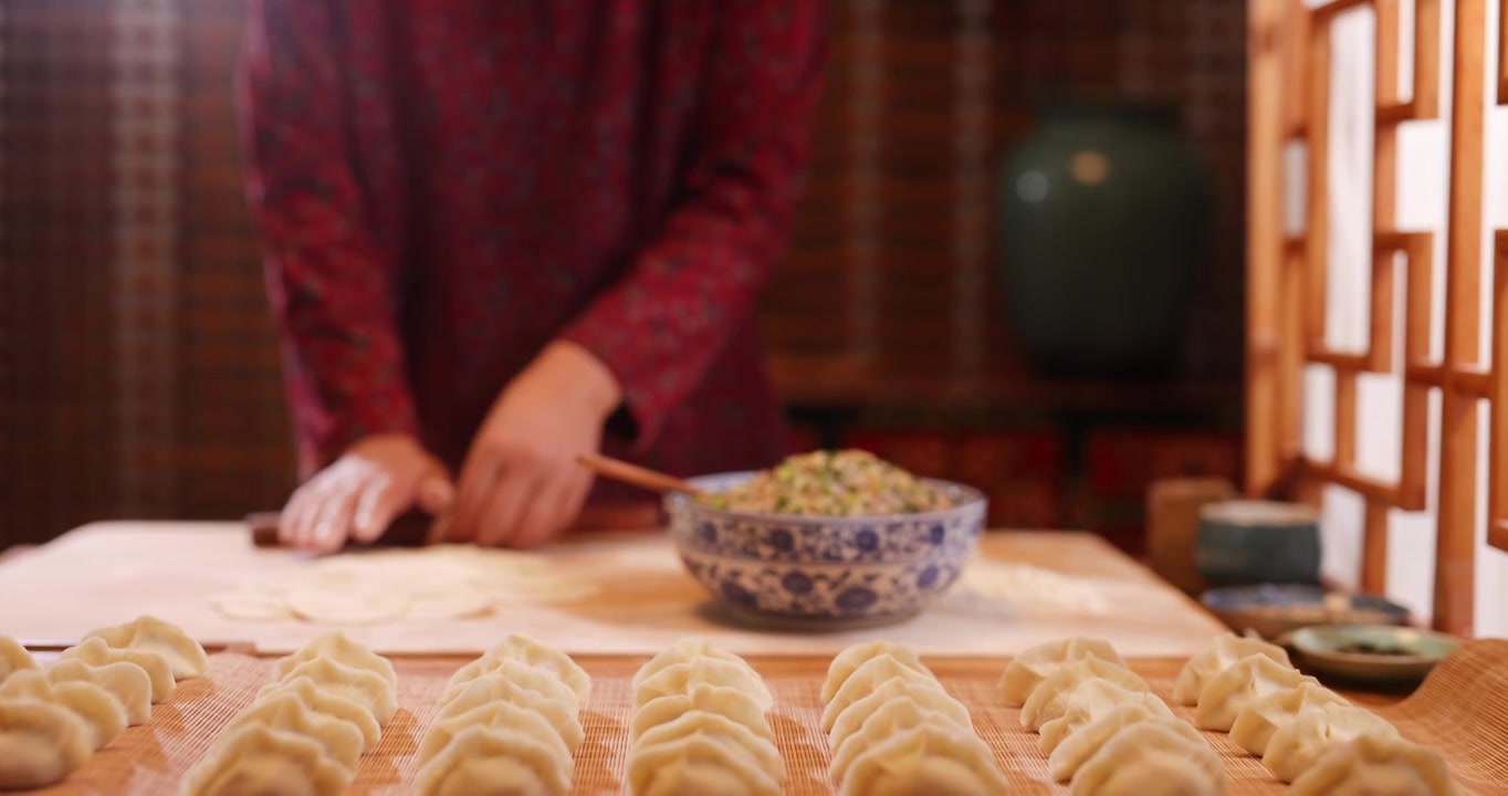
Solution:
<svg viewBox="0 0 1508 796">
<path fill-rule="evenodd" d="M 543 544 L 582 452 L 784 451 L 754 303 L 789 238 L 822 0 L 250 0 L 252 214 L 302 485 L 285 543 Z"/>
</svg>

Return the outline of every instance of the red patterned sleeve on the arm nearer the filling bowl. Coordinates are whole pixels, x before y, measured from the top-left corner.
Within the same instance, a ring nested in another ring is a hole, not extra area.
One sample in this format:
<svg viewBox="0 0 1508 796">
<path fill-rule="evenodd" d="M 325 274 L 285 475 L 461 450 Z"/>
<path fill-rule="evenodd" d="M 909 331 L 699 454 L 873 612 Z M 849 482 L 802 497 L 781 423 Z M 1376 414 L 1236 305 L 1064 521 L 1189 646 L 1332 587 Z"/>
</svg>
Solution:
<svg viewBox="0 0 1508 796">
<path fill-rule="evenodd" d="M 718 9 L 683 199 L 561 335 L 618 378 L 641 449 L 746 321 L 783 253 L 820 93 L 825 2 L 727 0 Z"/>
</svg>

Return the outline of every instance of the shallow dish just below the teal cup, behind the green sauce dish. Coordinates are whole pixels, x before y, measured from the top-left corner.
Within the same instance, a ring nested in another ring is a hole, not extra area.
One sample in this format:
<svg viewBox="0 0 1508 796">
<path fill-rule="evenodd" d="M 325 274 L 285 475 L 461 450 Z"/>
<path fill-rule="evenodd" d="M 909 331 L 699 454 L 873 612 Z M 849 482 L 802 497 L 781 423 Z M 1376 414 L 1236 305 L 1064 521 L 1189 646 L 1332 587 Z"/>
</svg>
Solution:
<svg viewBox="0 0 1508 796">
<path fill-rule="evenodd" d="M 1199 602 L 1237 633 L 1268 639 L 1316 624 L 1408 624 L 1408 609 L 1398 603 L 1297 583 L 1211 589 Z"/>
</svg>

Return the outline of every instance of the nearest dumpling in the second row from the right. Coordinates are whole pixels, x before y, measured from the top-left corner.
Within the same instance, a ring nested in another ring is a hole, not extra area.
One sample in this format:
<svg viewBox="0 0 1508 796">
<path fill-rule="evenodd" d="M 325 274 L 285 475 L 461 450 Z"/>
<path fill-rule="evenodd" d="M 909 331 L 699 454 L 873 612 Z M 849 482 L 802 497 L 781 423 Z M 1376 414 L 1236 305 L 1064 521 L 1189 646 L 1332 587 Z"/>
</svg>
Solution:
<svg viewBox="0 0 1508 796">
<path fill-rule="evenodd" d="M 1193 728 L 1190 728 L 1193 730 Z M 1105 742 L 1069 784 L 1071 796 L 1224 796 L 1231 775 L 1203 739 L 1166 721 L 1133 724 Z"/>
</svg>

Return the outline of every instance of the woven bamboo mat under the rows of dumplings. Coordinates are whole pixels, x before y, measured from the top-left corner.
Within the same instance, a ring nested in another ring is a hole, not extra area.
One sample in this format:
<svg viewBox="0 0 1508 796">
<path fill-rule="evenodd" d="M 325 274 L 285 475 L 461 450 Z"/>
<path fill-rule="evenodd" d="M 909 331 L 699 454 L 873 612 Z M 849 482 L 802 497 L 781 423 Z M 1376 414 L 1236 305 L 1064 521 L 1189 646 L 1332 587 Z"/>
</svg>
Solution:
<svg viewBox="0 0 1508 796">
<path fill-rule="evenodd" d="M 632 713 L 629 678 L 644 657 L 579 657 L 593 675 L 591 695 L 582 709 L 587 740 L 576 752 L 575 793 L 626 793 L 623 782 L 627 725 Z M 775 693 L 771 724 L 789 769 L 786 793 L 832 793 L 826 776 L 828 742 L 817 728 L 817 690 L 826 659 L 757 659 L 749 662 Z M 395 659 L 400 672 L 400 712 L 383 728 L 382 743 L 362 758 L 351 793 L 409 793 L 413 752 L 434 713 L 445 680 L 461 660 Z M 1016 709 L 1006 707 L 995 681 L 1006 659 L 939 659 L 927 662 L 944 687 L 974 716 L 980 737 L 994 749 L 1016 793 L 1066 793 L 1047 775 L 1038 736 L 1018 724 Z M 271 662 L 234 653 L 213 656 L 210 675 L 179 684 L 178 692 L 154 706 L 152 721 L 127 730 L 90 761 L 47 794 L 151 794 L 176 793 L 182 773 L 210 748 L 220 727 L 250 704 L 267 678 Z M 1131 668 L 1169 700 L 1182 660 L 1140 659 Z M 1359 700 L 1368 704 L 1366 700 Z M 1374 700 L 1375 703 L 1375 700 Z M 1475 641 L 1446 659 L 1413 696 L 1392 706 L 1371 706 L 1408 739 L 1440 749 L 1451 763 L 1463 794 L 1505 793 L 1508 782 L 1508 641 Z M 1181 716 L 1191 710 L 1173 706 Z M 1226 760 L 1234 794 L 1283 793 L 1262 764 L 1226 736 L 1206 733 Z"/>
</svg>

